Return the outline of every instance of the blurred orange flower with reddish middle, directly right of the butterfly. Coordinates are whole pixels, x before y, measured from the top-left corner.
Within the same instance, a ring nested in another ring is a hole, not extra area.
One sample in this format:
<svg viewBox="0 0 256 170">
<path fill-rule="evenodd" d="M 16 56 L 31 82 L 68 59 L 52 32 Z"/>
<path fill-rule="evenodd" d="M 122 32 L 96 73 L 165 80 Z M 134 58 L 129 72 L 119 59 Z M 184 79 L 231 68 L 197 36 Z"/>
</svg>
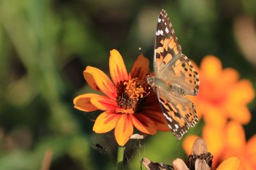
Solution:
<svg viewBox="0 0 256 170">
<path fill-rule="evenodd" d="M 235 69 L 222 69 L 221 61 L 212 55 L 200 64 L 200 89 L 195 103 L 198 115 L 204 115 L 206 124 L 225 125 L 227 119 L 248 124 L 251 113 L 246 107 L 254 97 L 252 83 L 239 80 Z"/>
</svg>

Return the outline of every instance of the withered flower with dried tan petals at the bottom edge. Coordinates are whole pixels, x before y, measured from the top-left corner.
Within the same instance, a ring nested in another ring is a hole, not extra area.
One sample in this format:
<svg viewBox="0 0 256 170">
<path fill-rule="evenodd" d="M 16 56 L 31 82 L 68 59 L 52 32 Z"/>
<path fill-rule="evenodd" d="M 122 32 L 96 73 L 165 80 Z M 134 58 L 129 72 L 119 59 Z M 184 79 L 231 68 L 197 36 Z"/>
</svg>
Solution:
<svg viewBox="0 0 256 170">
<path fill-rule="evenodd" d="M 212 157 L 213 155 L 207 152 L 207 146 L 204 139 L 198 138 L 193 144 L 191 155 L 189 155 L 188 159 L 175 159 L 173 160 L 173 166 L 168 166 L 163 163 L 154 163 L 149 159 L 142 159 L 141 163 L 147 167 L 148 170 L 211 170 L 212 169 Z M 220 166 L 216 170 L 238 170 L 240 161 L 237 157 L 230 157 L 223 162 L 221 162 Z"/>
</svg>

